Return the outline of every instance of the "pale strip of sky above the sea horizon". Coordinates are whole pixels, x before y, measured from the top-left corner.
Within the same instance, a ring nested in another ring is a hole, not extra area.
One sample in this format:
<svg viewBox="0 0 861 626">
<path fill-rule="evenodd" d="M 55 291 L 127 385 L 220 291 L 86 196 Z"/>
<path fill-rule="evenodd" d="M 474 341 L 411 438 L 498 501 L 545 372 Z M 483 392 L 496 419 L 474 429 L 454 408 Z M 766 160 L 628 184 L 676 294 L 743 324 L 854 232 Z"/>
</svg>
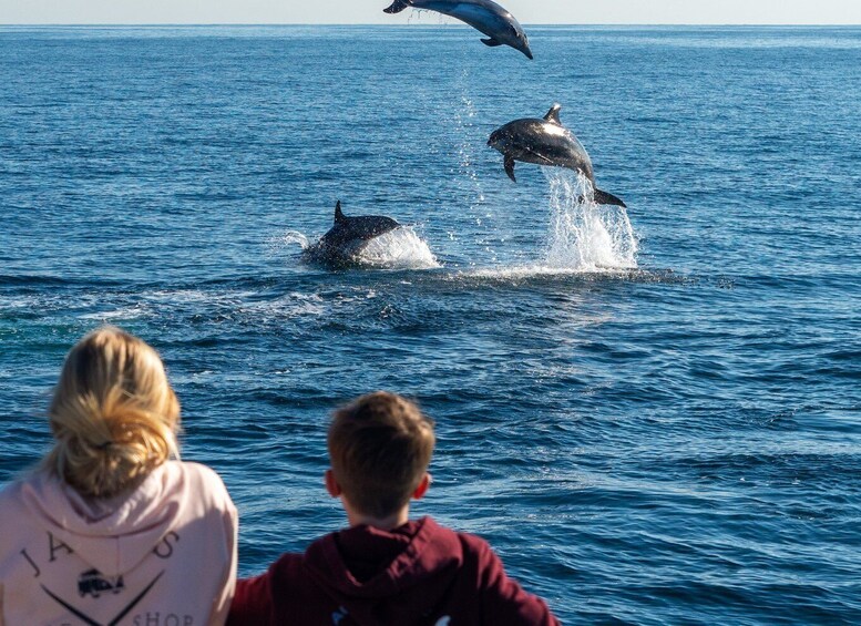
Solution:
<svg viewBox="0 0 861 626">
<path fill-rule="evenodd" d="M 412 11 L 387 16 L 389 1 L 0 0 L 0 24 L 406 23 Z M 533 24 L 861 24 L 861 0 L 496 1 Z"/>
</svg>

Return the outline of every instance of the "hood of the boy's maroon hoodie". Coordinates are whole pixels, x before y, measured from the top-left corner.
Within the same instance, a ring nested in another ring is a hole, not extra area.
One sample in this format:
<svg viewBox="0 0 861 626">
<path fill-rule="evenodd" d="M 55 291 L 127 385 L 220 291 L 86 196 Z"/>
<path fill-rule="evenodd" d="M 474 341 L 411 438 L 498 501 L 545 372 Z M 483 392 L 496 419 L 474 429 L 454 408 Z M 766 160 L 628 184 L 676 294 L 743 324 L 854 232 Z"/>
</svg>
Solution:
<svg viewBox="0 0 861 626">
<path fill-rule="evenodd" d="M 305 563 L 353 617 L 370 617 L 386 599 L 394 610 L 388 619 L 408 624 L 418 623 L 450 588 L 463 548 L 455 533 L 422 517 L 393 531 L 356 526 L 327 535 L 309 546 Z"/>
</svg>

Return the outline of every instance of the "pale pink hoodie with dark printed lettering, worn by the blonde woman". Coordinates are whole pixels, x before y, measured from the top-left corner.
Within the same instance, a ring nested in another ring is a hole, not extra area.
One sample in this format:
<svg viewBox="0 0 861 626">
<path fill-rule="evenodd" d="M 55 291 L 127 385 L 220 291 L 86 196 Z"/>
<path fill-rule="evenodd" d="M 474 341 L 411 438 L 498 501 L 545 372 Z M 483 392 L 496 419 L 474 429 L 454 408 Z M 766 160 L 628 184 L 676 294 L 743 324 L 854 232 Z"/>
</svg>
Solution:
<svg viewBox="0 0 861 626">
<path fill-rule="evenodd" d="M 0 626 L 223 624 L 236 507 L 218 475 L 171 461 L 91 501 L 44 473 L 0 492 Z"/>
</svg>

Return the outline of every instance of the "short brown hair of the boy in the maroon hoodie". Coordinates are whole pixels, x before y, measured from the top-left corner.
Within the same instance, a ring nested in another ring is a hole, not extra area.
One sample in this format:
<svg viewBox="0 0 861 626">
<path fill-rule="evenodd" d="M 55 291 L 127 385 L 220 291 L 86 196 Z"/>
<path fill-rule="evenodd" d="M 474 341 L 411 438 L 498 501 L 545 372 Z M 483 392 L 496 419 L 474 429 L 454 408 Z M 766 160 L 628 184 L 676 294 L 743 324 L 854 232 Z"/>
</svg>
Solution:
<svg viewBox="0 0 861 626">
<path fill-rule="evenodd" d="M 433 420 L 416 403 L 386 391 L 362 396 L 332 414 L 335 480 L 358 512 L 387 517 L 410 501 L 434 442 Z"/>
</svg>

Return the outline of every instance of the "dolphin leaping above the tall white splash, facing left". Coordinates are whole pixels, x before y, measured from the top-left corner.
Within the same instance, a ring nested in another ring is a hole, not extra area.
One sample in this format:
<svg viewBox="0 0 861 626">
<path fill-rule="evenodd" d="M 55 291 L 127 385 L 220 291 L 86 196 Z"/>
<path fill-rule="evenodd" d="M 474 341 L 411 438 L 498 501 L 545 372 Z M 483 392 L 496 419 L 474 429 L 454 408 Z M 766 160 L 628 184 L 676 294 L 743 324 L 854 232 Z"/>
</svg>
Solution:
<svg viewBox="0 0 861 626">
<path fill-rule="evenodd" d="M 613 194 L 602 192 L 595 185 L 592 160 L 574 133 L 560 122 L 560 104 L 554 104 L 543 119 L 527 117 L 509 122 L 491 133 L 488 145 L 496 148 L 505 157 L 505 174 L 514 178 L 514 162 L 553 165 L 580 172 L 595 189 L 597 204 L 625 206 Z"/>
</svg>

